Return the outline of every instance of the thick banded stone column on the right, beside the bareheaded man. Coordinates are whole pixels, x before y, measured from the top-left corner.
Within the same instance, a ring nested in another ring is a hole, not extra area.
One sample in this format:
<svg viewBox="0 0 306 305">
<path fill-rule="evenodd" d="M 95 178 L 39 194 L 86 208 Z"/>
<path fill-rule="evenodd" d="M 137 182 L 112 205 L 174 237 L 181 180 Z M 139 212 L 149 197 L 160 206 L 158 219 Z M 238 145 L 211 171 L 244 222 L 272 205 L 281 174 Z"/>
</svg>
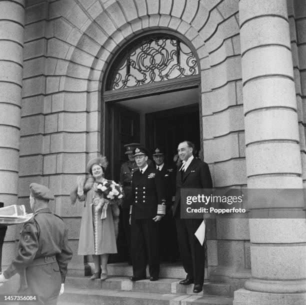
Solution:
<svg viewBox="0 0 306 305">
<path fill-rule="evenodd" d="M 302 188 L 286 0 L 240 0 L 239 22 L 247 186 Z M 305 219 L 249 219 L 249 231 L 251 278 L 233 303 L 304 304 Z"/>
</svg>

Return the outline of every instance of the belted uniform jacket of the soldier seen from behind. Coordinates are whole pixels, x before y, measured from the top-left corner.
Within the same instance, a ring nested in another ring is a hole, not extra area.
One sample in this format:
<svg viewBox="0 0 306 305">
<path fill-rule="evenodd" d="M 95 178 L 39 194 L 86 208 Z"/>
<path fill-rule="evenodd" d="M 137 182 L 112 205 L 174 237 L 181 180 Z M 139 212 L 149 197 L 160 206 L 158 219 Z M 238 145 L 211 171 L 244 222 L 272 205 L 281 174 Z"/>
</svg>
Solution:
<svg viewBox="0 0 306 305">
<path fill-rule="evenodd" d="M 72 257 L 68 246 L 67 228 L 63 220 L 46 208 L 38 209 L 33 217 L 25 222 L 20 231 L 18 253 L 8 268 L 3 272 L 5 278 L 10 278 L 15 273 L 20 273 L 21 289 L 26 289 L 26 268 L 35 265 L 37 271 L 36 281 L 43 268 L 43 260 L 55 259 L 57 261 L 61 282 L 64 282 L 67 273 L 67 264 Z M 41 265 L 35 262 L 42 261 Z M 25 272 L 24 272 L 25 270 Z M 22 278 L 23 277 L 23 278 Z M 43 278 L 41 278 L 43 282 Z M 25 286 L 22 287 L 22 284 Z M 29 284 L 30 286 L 30 284 Z M 52 287 L 49 287 L 51 290 Z"/>
</svg>

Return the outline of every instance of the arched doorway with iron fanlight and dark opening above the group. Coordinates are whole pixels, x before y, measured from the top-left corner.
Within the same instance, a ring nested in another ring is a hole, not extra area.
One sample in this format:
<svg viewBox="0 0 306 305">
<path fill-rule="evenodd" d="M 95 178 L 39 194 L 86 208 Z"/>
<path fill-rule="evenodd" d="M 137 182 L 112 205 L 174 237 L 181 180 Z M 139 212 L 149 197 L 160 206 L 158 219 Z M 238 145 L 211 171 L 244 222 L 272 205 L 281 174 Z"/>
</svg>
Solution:
<svg viewBox="0 0 306 305">
<path fill-rule="evenodd" d="M 191 140 L 200 149 L 199 64 L 183 39 L 172 33 L 146 33 L 110 61 L 102 93 L 109 178 L 119 180 L 120 166 L 126 161 L 124 144 L 130 142 L 149 150 L 162 145 L 170 164 L 180 141 Z M 125 260 L 121 230 L 118 252 L 115 260 Z"/>
</svg>

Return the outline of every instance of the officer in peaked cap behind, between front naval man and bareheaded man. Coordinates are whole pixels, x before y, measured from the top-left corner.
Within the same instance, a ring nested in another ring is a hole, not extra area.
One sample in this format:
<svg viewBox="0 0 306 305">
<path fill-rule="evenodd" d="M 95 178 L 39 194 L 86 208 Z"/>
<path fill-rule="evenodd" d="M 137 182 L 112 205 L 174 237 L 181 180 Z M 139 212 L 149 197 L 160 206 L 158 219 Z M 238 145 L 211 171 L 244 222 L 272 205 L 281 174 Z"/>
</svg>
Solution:
<svg viewBox="0 0 306 305">
<path fill-rule="evenodd" d="M 179 253 L 175 221 L 172 216 L 175 195 L 175 170 L 164 162 L 164 155 L 164 147 L 155 146 L 153 148 L 154 166 L 160 172 L 166 188 L 166 213 L 159 224 L 160 260 L 173 262 L 178 258 Z"/>
</svg>

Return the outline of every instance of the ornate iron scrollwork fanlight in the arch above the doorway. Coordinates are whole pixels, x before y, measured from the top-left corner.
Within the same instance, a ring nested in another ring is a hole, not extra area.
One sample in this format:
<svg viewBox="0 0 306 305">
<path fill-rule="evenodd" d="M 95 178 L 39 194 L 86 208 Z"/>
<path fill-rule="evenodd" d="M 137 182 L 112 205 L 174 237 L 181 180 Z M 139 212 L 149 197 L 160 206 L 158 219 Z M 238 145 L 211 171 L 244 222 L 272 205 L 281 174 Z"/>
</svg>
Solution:
<svg viewBox="0 0 306 305">
<path fill-rule="evenodd" d="M 123 89 L 198 73 L 190 48 L 170 36 L 142 39 L 112 69 L 107 90 Z"/>
</svg>

